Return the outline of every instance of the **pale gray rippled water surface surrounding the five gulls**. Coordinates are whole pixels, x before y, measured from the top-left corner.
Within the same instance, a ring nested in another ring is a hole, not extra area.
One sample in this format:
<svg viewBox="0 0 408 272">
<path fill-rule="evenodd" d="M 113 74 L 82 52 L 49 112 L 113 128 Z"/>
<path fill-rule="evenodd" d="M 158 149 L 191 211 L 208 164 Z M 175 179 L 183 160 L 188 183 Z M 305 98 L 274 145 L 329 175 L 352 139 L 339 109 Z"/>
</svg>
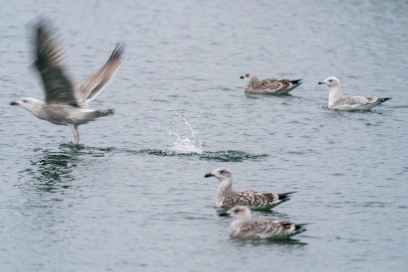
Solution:
<svg viewBox="0 0 408 272">
<path fill-rule="evenodd" d="M 75 81 L 127 45 L 90 104 L 117 114 L 80 126 L 81 146 L 8 105 L 43 97 L 29 67 L 39 15 Z M 3 1 L 0 269 L 406 271 L 407 15 L 406 1 Z M 251 98 L 248 71 L 304 83 Z M 329 76 L 393 99 L 328 110 Z M 298 191 L 254 218 L 313 224 L 289 242 L 231 238 L 203 178 L 220 166 L 236 189 Z"/>
</svg>

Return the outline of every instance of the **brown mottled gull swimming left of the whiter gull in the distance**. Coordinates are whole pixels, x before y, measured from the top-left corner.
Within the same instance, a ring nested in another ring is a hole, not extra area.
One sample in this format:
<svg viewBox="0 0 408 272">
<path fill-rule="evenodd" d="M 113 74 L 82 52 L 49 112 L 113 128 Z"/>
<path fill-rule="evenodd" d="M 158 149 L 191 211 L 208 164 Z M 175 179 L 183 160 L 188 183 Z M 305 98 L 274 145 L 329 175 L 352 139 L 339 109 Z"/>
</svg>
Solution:
<svg viewBox="0 0 408 272">
<path fill-rule="evenodd" d="M 257 73 L 249 72 L 245 76 L 241 76 L 241 79 L 245 79 L 245 92 L 246 93 L 263 93 L 263 94 L 288 94 L 291 90 L 302 84 L 298 80 L 289 79 L 264 79 L 259 81 Z"/>
</svg>

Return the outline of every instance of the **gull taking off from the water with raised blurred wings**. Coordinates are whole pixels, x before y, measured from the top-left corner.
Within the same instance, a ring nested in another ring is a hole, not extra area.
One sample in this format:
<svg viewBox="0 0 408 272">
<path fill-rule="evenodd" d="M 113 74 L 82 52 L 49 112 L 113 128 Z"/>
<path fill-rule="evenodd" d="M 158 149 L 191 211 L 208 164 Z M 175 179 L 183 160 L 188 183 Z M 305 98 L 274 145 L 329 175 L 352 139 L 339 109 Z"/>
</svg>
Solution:
<svg viewBox="0 0 408 272">
<path fill-rule="evenodd" d="M 75 87 L 66 76 L 62 66 L 62 52 L 55 37 L 50 35 L 41 21 L 36 27 L 36 60 L 45 90 L 45 101 L 27 97 L 10 103 L 26 109 L 36 117 L 68 126 L 75 143 L 79 143 L 78 126 L 98 117 L 114 114 L 114 109 L 91 110 L 86 106 L 112 81 L 124 53 L 124 43 L 117 44 L 106 64 L 94 75 L 79 82 Z"/>
</svg>

